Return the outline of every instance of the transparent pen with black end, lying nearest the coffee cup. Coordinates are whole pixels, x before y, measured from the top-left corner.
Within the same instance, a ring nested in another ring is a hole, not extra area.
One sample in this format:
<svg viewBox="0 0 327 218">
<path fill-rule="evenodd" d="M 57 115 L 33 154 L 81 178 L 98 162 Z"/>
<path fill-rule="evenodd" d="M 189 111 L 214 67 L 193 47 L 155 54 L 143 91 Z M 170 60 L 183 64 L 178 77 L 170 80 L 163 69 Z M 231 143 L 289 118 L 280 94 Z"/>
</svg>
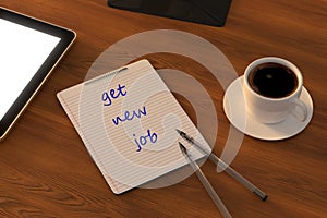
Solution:
<svg viewBox="0 0 327 218">
<path fill-rule="evenodd" d="M 199 143 L 197 143 L 193 137 L 189 136 L 183 131 L 177 130 L 177 132 L 189 143 L 194 145 L 195 148 L 197 148 L 199 152 L 202 152 L 204 155 L 208 156 L 209 160 L 215 162 L 217 167 L 220 169 L 223 169 L 229 175 L 231 175 L 234 180 L 243 184 L 247 190 L 256 194 L 263 202 L 265 202 L 268 197 L 267 194 L 265 194 L 263 191 L 261 191 L 257 186 L 252 184 L 249 180 L 246 180 L 243 175 L 241 175 L 239 172 L 237 172 L 233 168 L 228 166 L 226 162 L 223 162 L 219 157 L 217 157 L 214 153 L 210 153 L 204 148 Z"/>
</svg>

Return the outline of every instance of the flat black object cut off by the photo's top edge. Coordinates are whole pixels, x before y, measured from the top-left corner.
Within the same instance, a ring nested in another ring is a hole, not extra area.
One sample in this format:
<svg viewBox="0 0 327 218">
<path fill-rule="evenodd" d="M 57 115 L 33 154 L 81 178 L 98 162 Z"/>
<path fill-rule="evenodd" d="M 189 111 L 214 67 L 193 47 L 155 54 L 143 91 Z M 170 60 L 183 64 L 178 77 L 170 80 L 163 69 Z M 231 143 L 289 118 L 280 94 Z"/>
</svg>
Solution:
<svg viewBox="0 0 327 218">
<path fill-rule="evenodd" d="M 232 0 L 107 0 L 108 5 L 130 11 L 223 26 Z"/>
</svg>

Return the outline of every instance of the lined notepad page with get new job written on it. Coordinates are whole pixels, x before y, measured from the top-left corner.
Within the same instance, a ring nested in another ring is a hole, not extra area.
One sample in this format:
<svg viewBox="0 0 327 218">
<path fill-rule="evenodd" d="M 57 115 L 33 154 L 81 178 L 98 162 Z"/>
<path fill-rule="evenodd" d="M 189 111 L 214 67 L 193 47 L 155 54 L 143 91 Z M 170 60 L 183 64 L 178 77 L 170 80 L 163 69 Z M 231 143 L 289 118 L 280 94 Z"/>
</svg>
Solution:
<svg viewBox="0 0 327 218">
<path fill-rule="evenodd" d="M 57 97 L 116 194 L 187 164 L 175 129 L 210 149 L 147 60 L 64 89 Z M 203 157 L 193 148 L 191 155 Z"/>
</svg>

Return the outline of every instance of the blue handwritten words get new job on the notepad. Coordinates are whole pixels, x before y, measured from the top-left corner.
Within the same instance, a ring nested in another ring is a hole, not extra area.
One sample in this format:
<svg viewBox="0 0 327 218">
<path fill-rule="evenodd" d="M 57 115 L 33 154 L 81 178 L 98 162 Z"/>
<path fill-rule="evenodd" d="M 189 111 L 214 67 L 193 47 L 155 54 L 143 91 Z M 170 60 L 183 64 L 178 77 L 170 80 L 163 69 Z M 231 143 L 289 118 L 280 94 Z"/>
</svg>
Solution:
<svg viewBox="0 0 327 218">
<path fill-rule="evenodd" d="M 109 92 L 102 93 L 102 102 L 105 107 L 109 107 L 113 104 L 113 99 L 118 99 L 119 97 L 124 97 L 128 95 L 126 86 L 118 84 L 117 88 L 111 88 Z M 125 122 L 125 121 L 132 121 L 133 119 L 137 118 L 141 119 L 141 117 L 146 117 L 146 107 L 144 106 L 142 109 L 133 110 L 133 111 L 125 111 L 122 116 L 117 116 L 112 119 L 113 124 L 117 126 L 119 123 Z M 152 131 L 148 129 L 147 133 L 145 135 L 134 136 L 134 142 L 137 146 L 136 152 L 141 152 L 142 147 L 144 147 L 147 143 L 156 143 L 158 140 L 157 133 L 152 133 Z"/>
</svg>

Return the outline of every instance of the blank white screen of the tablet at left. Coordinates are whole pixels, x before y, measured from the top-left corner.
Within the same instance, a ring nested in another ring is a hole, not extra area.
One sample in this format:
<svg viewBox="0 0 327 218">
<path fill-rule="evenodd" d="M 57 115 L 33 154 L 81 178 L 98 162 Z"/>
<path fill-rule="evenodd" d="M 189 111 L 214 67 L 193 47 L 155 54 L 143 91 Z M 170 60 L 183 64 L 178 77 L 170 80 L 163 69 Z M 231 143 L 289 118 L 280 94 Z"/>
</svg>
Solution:
<svg viewBox="0 0 327 218">
<path fill-rule="evenodd" d="M 0 19 L 0 120 L 60 41 Z"/>
</svg>

